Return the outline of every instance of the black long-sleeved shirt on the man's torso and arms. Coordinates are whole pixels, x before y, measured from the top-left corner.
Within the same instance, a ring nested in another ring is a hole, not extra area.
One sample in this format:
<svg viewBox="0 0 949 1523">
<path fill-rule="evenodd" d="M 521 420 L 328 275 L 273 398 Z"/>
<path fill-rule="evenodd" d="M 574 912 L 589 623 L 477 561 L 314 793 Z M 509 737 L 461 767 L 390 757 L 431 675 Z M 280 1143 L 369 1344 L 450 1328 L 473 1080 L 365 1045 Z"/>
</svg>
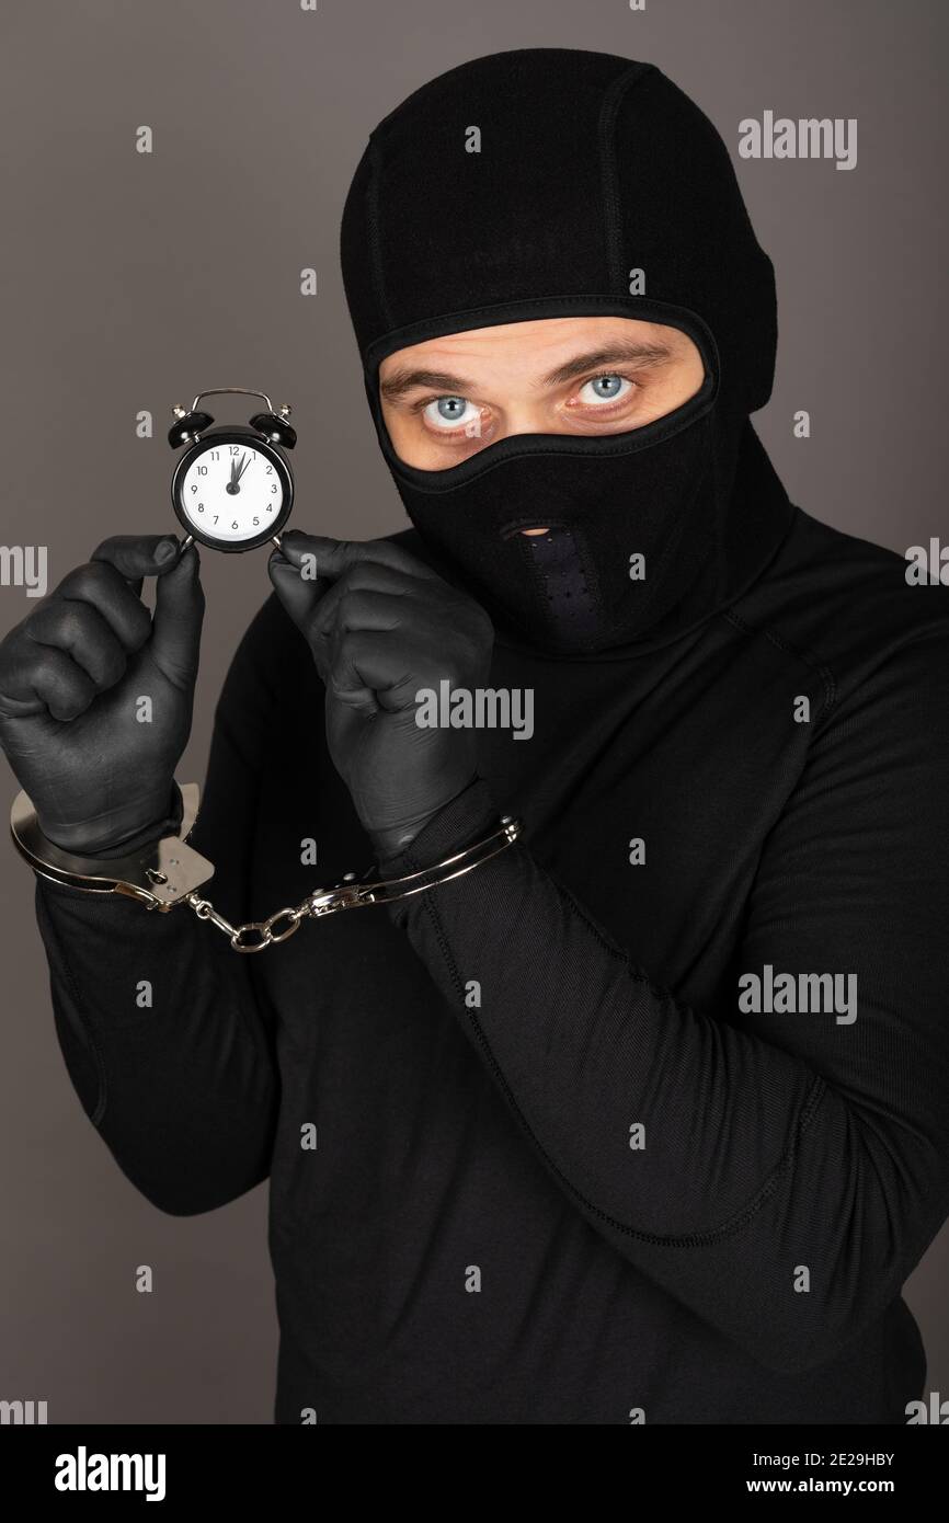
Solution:
<svg viewBox="0 0 949 1523">
<path fill-rule="evenodd" d="M 498 641 L 533 739 L 480 731 L 480 781 L 384 867 L 501 812 L 524 844 L 260 956 L 38 880 L 128 1177 L 198 1212 L 270 1176 L 279 1422 L 905 1422 L 900 1288 L 949 1211 L 949 594 L 903 573 L 798 512 L 666 646 Z M 372 862 L 274 599 L 192 842 L 232 920 Z M 856 975 L 856 1019 L 754 1013 L 752 973 Z"/>
</svg>

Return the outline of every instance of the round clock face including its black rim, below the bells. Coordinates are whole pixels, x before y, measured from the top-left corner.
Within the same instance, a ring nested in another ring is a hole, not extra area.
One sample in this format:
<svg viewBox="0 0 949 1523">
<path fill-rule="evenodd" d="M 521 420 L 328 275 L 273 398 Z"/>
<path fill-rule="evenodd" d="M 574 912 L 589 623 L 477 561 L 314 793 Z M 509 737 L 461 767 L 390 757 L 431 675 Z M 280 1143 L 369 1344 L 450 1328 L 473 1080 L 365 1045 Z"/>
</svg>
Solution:
<svg viewBox="0 0 949 1523">
<path fill-rule="evenodd" d="M 289 475 L 280 457 L 253 439 L 207 439 L 181 460 L 172 496 L 192 535 L 221 548 L 262 544 L 289 509 Z"/>
</svg>

